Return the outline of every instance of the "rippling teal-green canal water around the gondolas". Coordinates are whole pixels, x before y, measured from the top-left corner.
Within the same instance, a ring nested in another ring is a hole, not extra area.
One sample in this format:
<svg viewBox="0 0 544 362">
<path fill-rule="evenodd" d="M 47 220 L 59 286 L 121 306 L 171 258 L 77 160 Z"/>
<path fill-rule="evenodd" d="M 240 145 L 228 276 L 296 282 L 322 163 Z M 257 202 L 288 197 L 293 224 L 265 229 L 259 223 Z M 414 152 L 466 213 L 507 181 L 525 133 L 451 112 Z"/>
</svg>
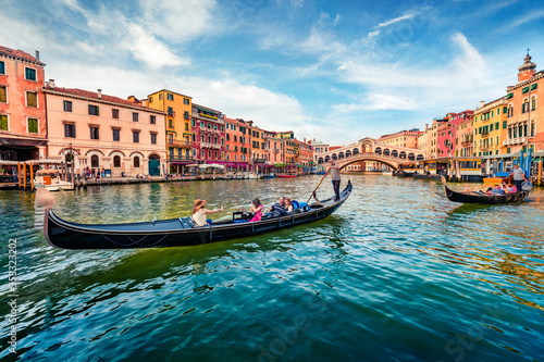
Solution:
<svg viewBox="0 0 544 362">
<path fill-rule="evenodd" d="M 0 359 L 544 360 L 542 189 L 518 205 L 463 205 L 433 180 L 343 178 L 353 195 L 323 221 L 157 250 L 51 248 L 33 229 L 34 195 L 0 192 Z M 89 187 L 55 194 L 55 209 L 85 223 L 136 222 L 186 216 L 206 198 L 225 208 L 213 219 L 227 219 L 255 197 L 306 201 L 319 179 Z M 318 196 L 331 190 L 327 179 Z"/>
</svg>

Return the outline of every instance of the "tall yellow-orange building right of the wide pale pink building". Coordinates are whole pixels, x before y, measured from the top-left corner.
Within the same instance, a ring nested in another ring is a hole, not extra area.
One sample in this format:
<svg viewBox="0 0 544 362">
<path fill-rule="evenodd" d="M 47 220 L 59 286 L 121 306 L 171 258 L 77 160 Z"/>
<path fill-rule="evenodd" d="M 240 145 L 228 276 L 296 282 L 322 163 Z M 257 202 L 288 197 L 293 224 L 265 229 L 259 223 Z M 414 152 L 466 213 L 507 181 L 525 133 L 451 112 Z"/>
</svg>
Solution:
<svg viewBox="0 0 544 362">
<path fill-rule="evenodd" d="M 191 97 L 162 89 L 147 100 L 149 108 L 166 112 L 166 151 L 170 170 L 175 172 L 178 165 L 193 162 Z"/>
</svg>

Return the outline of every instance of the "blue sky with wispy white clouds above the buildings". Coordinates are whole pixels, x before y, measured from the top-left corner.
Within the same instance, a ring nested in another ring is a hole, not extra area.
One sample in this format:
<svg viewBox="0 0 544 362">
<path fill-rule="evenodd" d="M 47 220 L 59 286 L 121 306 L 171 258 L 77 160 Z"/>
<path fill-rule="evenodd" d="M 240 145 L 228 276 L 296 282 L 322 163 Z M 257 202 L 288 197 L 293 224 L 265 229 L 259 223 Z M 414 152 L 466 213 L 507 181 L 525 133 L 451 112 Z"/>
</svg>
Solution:
<svg viewBox="0 0 544 362">
<path fill-rule="evenodd" d="M 343 146 L 424 128 L 544 68 L 542 0 L 0 0 L 0 45 L 55 85 L 170 89 L 231 118 Z"/>
</svg>

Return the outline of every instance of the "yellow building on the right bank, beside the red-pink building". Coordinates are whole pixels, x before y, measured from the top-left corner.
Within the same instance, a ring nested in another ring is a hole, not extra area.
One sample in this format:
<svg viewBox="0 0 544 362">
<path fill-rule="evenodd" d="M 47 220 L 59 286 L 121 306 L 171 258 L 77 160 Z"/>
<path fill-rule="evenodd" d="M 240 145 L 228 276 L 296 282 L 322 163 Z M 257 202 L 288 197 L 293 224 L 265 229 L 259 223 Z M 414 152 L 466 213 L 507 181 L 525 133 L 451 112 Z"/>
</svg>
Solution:
<svg viewBox="0 0 544 362">
<path fill-rule="evenodd" d="M 474 111 L 474 157 L 506 153 L 503 141 L 507 138 L 506 96 L 489 103 L 481 102 Z"/>
</svg>

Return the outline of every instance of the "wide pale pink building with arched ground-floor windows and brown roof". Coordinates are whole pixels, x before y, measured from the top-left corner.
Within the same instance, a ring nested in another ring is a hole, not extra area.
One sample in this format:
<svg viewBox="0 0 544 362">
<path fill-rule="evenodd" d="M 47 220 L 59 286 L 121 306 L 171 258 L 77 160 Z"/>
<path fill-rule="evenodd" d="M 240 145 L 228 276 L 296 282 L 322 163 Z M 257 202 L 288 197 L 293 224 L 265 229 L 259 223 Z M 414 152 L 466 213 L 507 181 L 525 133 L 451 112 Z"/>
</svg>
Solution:
<svg viewBox="0 0 544 362">
<path fill-rule="evenodd" d="M 163 174 L 165 112 L 53 82 L 44 92 L 49 159 L 64 161 L 72 153 L 76 174 L 87 167 L 112 177 Z"/>
</svg>

